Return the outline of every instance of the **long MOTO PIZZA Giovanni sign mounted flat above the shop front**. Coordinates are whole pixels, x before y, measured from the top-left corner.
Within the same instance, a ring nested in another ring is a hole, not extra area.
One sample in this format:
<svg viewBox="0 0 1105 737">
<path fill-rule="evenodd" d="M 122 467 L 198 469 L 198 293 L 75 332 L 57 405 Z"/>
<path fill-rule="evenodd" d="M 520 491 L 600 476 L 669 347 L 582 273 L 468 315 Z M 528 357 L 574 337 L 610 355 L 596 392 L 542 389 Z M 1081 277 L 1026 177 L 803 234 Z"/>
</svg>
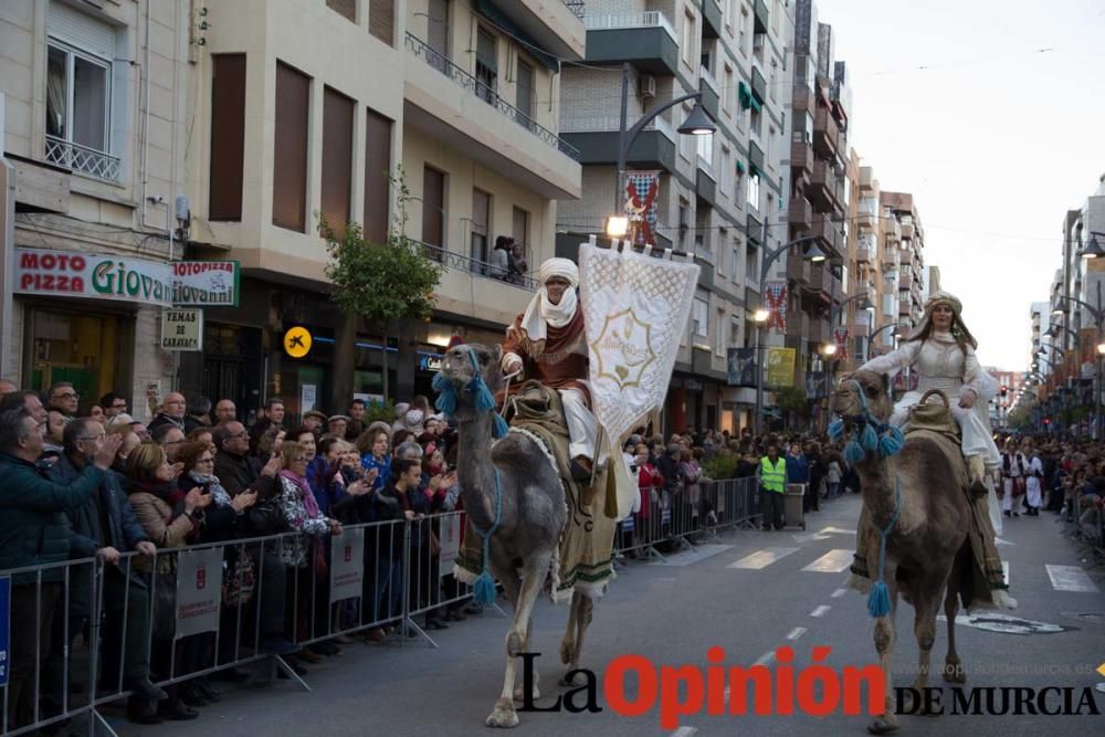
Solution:
<svg viewBox="0 0 1105 737">
<path fill-rule="evenodd" d="M 17 294 L 172 304 L 167 262 L 112 254 L 15 249 L 13 282 Z"/>
</svg>

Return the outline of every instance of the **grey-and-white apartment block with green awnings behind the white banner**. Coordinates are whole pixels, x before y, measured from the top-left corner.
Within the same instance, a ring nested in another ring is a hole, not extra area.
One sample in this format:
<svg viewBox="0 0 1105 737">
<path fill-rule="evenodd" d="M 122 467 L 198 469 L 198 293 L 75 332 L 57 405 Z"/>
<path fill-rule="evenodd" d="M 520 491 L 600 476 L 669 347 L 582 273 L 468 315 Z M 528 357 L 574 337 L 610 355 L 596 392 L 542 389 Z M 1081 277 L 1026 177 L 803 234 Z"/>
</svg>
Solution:
<svg viewBox="0 0 1105 737">
<path fill-rule="evenodd" d="M 566 67 L 561 136 L 580 151 L 582 196 L 558 206 L 565 255 L 601 233 L 615 185 L 621 70 L 630 65 L 628 126 L 701 93 L 712 136 L 676 133 L 693 102 L 662 113 L 635 139 L 629 168 L 659 172 L 652 241 L 702 266 L 664 412 L 665 429 L 751 423 L 755 391 L 726 386 L 726 351 L 751 346 L 762 304 L 762 254 L 786 239 L 786 131 L 792 4 L 783 0 L 588 1 L 586 67 Z M 769 278 L 786 273 L 782 261 Z M 783 276 L 785 278 L 785 276 Z M 765 331 L 764 343 L 775 340 Z M 781 344 L 781 340 L 778 340 Z"/>
</svg>

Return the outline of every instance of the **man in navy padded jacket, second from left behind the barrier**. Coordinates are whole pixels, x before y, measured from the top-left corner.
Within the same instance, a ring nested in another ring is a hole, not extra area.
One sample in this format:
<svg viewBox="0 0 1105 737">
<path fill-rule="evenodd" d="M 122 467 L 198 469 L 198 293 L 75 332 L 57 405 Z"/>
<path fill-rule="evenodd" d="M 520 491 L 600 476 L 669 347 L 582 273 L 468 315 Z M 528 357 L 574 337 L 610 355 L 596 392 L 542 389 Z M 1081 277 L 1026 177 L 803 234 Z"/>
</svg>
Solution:
<svg viewBox="0 0 1105 737">
<path fill-rule="evenodd" d="M 70 486 L 92 464 L 107 436 L 104 425 L 87 418 L 74 420 L 65 427 L 65 452 L 53 464 L 50 477 L 57 484 Z M 103 603 L 106 611 L 104 645 L 102 649 L 104 678 L 114 682 L 122 662 L 123 686 L 134 691 L 131 716 L 137 720 L 156 714 L 151 702 L 165 698 L 165 692 L 149 680 L 149 587 L 133 571 L 131 560 L 119 562 L 120 551 L 137 551 L 155 556 L 157 547 L 150 541 L 135 517 L 119 484 L 118 476 L 107 471 L 88 501 L 67 512 L 73 529 L 72 557 L 91 558 L 99 555 L 104 567 Z M 65 639 L 65 619 L 54 618 L 53 649 L 46 663 L 48 702 L 61 707 L 61 688 L 66 646 L 93 617 L 93 599 L 88 586 L 88 570 L 82 566 L 70 576 L 69 636 Z M 126 608 L 124 608 L 126 602 Z M 126 640 L 123 630 L 126 624 Z M 56 699 L 56 701 L 54 701 Z"/>
</svg>

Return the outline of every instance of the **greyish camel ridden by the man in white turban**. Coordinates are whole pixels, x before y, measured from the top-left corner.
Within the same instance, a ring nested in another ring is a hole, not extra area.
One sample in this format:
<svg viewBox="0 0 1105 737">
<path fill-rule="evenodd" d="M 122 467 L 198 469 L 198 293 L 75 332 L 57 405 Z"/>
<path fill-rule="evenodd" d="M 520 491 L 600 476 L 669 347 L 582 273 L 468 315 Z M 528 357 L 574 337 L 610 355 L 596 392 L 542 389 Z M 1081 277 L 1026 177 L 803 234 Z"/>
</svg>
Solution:
<svg viewBox="0 0 1105 737">
<path fill-rule="evenodd" d="M 474 358 L 474 360 L 473 360 Z M 488 568 L 503 585 L 514 609 L 506 635 L 506 672 L 503 691 L 486 719 L 488 727 L 514 727 L 518 714 L 514 701 L 522 701 L 515 689 L 518 653 L 526 652 L 534 604 L 552 565 L 557 540 L 567 523 L 564 485 L 545 451 L 529 436 L 508 433 L 492 446 L 494 410 L 478 410 L 466 388 L 478 370 L 492 393 L 503 378 L 498 370 L 502 346 L 478 344 L 456 346 L 442 359 L 441 373 L 453 382 L 456 394 L 459 440 L 456 472 L 464 510 L 477 529 L 495 524 L 496 489 L 502 498 L 498 524 L 491 537 Z M 475 364 L 478 369 L 473 366 Z M 569 604 L 568 629 L 560 645 L 560 659 L 568 666 L 561 684 L 570 685 L 572 671 L 579 667 L 583 634 L 591 622 L 593 602 L 576 589 Z M 537 698 L 537 678 L 533 698 Z"/>
</svg>

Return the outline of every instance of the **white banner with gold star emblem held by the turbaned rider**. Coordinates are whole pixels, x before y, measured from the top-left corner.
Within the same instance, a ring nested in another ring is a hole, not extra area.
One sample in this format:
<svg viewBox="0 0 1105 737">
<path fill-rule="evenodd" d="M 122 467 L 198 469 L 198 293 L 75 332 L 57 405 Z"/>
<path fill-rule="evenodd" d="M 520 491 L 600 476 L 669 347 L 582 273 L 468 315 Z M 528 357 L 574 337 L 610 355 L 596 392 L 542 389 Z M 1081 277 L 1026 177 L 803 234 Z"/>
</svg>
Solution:
<svg viewBox="0 0 1105 737">
<path fill-rule="evenodd" d="M 591 404 L 612 441 L 663 404 L 697 282 L 695 263 L 580 245 Z"/>
</svg>

